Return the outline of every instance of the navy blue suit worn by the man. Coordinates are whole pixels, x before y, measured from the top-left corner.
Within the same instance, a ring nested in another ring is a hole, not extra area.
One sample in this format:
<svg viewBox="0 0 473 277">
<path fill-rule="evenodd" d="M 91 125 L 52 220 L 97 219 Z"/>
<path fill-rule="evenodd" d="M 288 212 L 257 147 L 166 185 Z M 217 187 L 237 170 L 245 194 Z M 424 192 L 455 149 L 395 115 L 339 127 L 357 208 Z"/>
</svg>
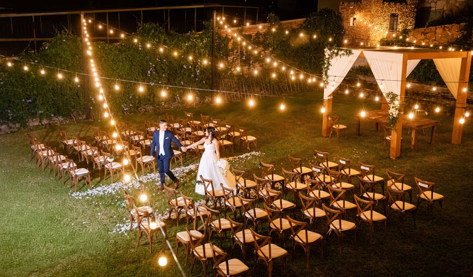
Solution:
<svg viewBox="0 0 473 277">
<path fill-rule="evenodd" d="M 174 157 L 174 151 L 171 148 L 171 141 L 173 141 L 177 146 L 179 146 L 179 148 L 182 147 L 182 144 L 171 131 L 166 130 L 164 131 L 163 141 L 164 155 L 160 155 L 160 132 L 160 130 L 156 130 L 153 133 L 150 156 L 153 156 L 154 149 L 156 149 L 157 168 L 159 168 L 161 186 L 163 186 L 165 183 L 164 174 L 168 175 L 168 177 L 171 178 L 173 182 L 177 182 L 176 176 L 174 176 L 173 172 L 171 172 L 171 170 L 169 169 L 171 165 L 171 158 Z"/>
</svg>

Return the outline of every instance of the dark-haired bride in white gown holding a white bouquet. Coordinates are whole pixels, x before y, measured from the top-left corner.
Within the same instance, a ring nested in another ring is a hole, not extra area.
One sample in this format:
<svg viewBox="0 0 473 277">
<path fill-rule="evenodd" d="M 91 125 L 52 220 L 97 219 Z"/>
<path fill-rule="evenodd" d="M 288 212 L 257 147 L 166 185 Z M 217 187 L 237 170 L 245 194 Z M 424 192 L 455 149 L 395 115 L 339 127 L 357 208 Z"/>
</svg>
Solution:
<svg viewBox="0 0 473 277">
<path fill-rule="evenodd" d="M 187 148 L 194 148 L 198 145 L 204 144 L 205 151 L 200 159 L 199 169 L 197 171 L 197 182 L 195 185 L 195 192 L 198 194 L 205 194 L 205 187 L 200 179 L 200 176 L 205 179 L 213 181 L 213 188 L 221 190 L 221 185 L 229 187 L 227 181 L 217 166 L 217 161 L 220 160 L 220 152 L 218 141 L 215 138 L 215 128 L 209 126 L 205 129 L 205 137 L 200 141 L 191 144 Z"/>
</svg>

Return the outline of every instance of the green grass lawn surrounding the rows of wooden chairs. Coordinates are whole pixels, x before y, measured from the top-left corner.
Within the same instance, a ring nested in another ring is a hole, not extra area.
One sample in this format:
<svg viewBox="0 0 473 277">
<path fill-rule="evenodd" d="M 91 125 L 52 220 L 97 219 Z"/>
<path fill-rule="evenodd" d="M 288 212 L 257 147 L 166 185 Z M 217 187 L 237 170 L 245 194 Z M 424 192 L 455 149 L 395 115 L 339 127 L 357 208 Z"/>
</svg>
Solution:
<svg viewBox="0 0 473 277">
<path fill-rule="evenodd" d="M 347 235 L 342 252 L 338 251 L 338 241 L 333 234 L 324 244 L 324 258 L 317 247 L 313 247 L 310 257 L 310 269 L 305 269 L 303 251 L 296 248 L 291 257 L 290 243 L 285 248 L 288 255 L 288 275 L 471 275 L 473 274 L 473 239 L 471 226 L 473 219 L 469 200 L 473 195 L 473 128 L 466 122 L 463 129 L 461 146 L 450 144 L 452 118 L 442 114 L 432 117 L 440 120 L 434 146 L 428 144 L 430 132 L 420 132 L 419 147 L 413 151 L 409 148 L 410 136 L 404 133 L 402 158 L 391 160 L 388 149 L 382 151 L 383 133 L 374 130 L 374 124 L 362 123 L 361 136 L 355 135 L 355 114 L 361 110 L 353 98 L 344 95 L 336 96 L 334 112 L 341 116 L 341 122 L 348 125 L 348 140 L 336 138 L 330 140 L 321 136 L 322 116 L 321 93 L 300 93 L 294 96 L 303 98 L 286 98 L 286 110 L 278 110 L 280 99 L 268 98 L 256 102 L 249 108 L 246 103 L 227 103 L 220 106 L 186 108 L 194 114 L 206 114 L 223 121 L 236 123 L 248 128 L 248 133 L 258 138 L 258 150 L 261 159 L 275 164 L 277 170 L 289 167 L 288 154 L 304 159 L 304 163 L 313 162 L 312 148 L 328 151 L 331 159 L 337 155 L 350 158 L 352 163 L 365 162 L 376 165 L 376 173 L 386 177 L 384 169 L 406 173 L 406 182 L 415 186 L 414 177 L 436 183 L 436 192 L 445 196 L 443 213 L 440 216 L 439 206 L 435 205 L 433 217 L 427 212 L 426 204 L 417 213 L 417 228 L 414 228 L 410 216 L 407 216 L 405 232 L 401 233 L 398 217 L 389 220 L 387 234 L 383 237 L 382 228 L 375 227 L 373 243 L 368 242 L 366 225 L 359 232 L 359 243 L 355 249 L 353 237 Z M 347 100 L 347 101 L 345 101 Z M 369 109 L 379 109 L 380 105 L 368 105 Z M 184 116 L 183 109 L 167 111 L 169 114 Z M 431 116 L 431 115 L 429 115 Z M 140 114 L 124 116 L 124 121 L 136 129 L 144 129 L 143 119 L 157 121 L 165 113 Z M 104 122 L 70 123 L 60 126 L 69 135 L 76 135 L 93 143 L 90 125 L 109 127 Z M 58 126 L 34 128 L 28 130 L 42 143 L 61 149 Z M 76 199 L 71 197 L 71 190 L 62 186 L 47 171 L 41 171 L 30 161 L 27 130 L 0 136 L 0 189 L 2 191 L 2 209 L 0 217 L 0 275 L 161 275 L 178 276 L 180 274 L 175 262 L 171 259 L 164 242 L 154 241 L 153 252 L 149 254 L 146 238 L 137 248 L 137 232 L 112 233 L 117 224 L 124 224 L 129 219 L 126 207 L 122 207 L 122 191 Z M 245 151 L 235 149 L 235 155 Z M 73 157 L 73 156 L 70 156 Z M 77 158 L 74 157 L 77 161 Z M 259 173 L 258 157 L 251 158 L 243 165 L 249 174 Z M 198 162 L 188 158 L 185 164 Z M 231 163 L 230 163 L 231 165 Z M 84 166 L 84 165 L 83 165 Z M 357 166 L 356 166 L 357 167 Z M 90 167 L 92 169 L 92 166 Z M 201 199 L 194 193 L 192 180 L 195 171 L 182 180 L 180 188 L 184 194 Z M 102 172 L 103 176 L 103 172 Z M 248 175 L 251 176 L 251 175 Z M 108 185 L 110 178 L 99 180 L 94 173 L 94 184 Z M 358 190 L 357 182 L 356 189 Z M 87 188 L 82 188 L 82 191 Z M 157 192 L 153 183 L 146 183 L 150 195 L 150 205 L 159 211 L 167 208 L 166 196 Z M 138 195 L 138 190 L 132 190 Z M 386 192 L 387 194 L 387 192 Z M 417 188 L 413 193 L 416 201 Z M 292 195 L 288 194 L 288 199 Z M 351 199 L 351 196 L 350 196 Z M 261 205 L 261 204 L 260 204 Z M 378 210 L 382 207 L 378 205 Z M 300 212 L 294 215 L 299 216 Z M 241 221 L 239 219 L 239 221 Z M 185 220 L 179 228 L 175 220 L 169 220 L 168 233 L 171 244 L 175 245 L 176 232 L 184 230 Z M 318 226 L 319 233 L 327 237 L 326 230 Z M 260 233 L 267 235 L 265 225 Z M 286 236 L 287 238 L 288 236 Z M 218 244 L 214 236 L 212 241 Z M 279 244 L 276 237 L 273 240 Z M 230 250 L 229 239 L 224 240 L 223 249 Z M 168 266 L 161 268 L 156 257 L 164 253 L 170 259 Z M 179 259 L 184 261 L 181 247 Z M 233 257 L 242 259 L 240 249 L 235 249 Z M 253 253 L 249 252 L 246 263 L 253 270 L 255 264 Z M 190 263 L 183 265 L 187 275 Z M 274 276 L 283 276 L 281 261 L 276 261 Z M 201 275 L 202 267 L 197 261 L 193 275 Z M 253 271 L 250 271 L 253 272 Z M 211 271 L 208 271 L 210 274 Z M 267 267 L 259 263 L 254 275 L 266 275 Z"/>
</svg>

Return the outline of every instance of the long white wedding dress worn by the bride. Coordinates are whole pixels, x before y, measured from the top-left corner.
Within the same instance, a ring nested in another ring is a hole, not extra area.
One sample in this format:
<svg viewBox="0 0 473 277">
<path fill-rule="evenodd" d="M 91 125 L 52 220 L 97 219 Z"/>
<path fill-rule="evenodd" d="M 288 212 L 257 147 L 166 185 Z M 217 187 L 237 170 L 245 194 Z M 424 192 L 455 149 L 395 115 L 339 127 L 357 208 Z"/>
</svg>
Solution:
<svg viewBox="0 0 473 277">
<path fill-rule="evenodd" d="M 204 142 L 204 153 L 202 158 L 200 158 L 199 169 L 197 170 L 197 183 L 195 185 L 195 192 L 198 194 L 205 194 L 205 186 L 200 179 L 200 175 L 205 179 L 210 179 L 213 181 L 213 189 L 221 190 L 222 184 L 224 187 L 231 188 L 228 186 L 228 181 L 225 176 L 223 176 L 220 168 L 217 166 L 217 154 L 215 153 L 215 146 L 213 144 L 207 144 Z M 227 171 L 227 175 L 228 175 Z M 227 176 L 229 177 L 229 176 Z M 233 188 L 231 188 L 233 189 Z"/>
</svg>

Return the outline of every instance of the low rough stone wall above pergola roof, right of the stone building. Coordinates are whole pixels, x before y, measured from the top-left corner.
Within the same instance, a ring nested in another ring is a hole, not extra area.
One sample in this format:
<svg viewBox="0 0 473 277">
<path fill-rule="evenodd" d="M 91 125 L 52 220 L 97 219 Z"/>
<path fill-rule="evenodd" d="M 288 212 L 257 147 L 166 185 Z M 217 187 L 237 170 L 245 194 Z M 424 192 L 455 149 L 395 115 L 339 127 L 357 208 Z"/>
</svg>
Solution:
<svg viewBox="0 0 473 277">
<path fill-rule="evenodd" d="M 408 38 L 410 42 L 416 45 L 438 47 L 453 43 L 456 39 L 460 38 L 465 32 L 462 31 L 464 26 L 465 23 L 417 28 L 409 31 Z"/>
</svg>

